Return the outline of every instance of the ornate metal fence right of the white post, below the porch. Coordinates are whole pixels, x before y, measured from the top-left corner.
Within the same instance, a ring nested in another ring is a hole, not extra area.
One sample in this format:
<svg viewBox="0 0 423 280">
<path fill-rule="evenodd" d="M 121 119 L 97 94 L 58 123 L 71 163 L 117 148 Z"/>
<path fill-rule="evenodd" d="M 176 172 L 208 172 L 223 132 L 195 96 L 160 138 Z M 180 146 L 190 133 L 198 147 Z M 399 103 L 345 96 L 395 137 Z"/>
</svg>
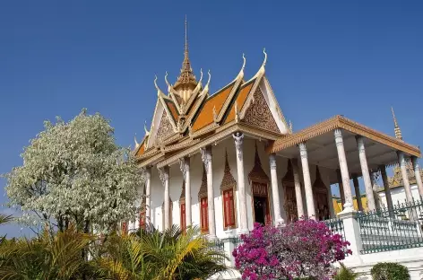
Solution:
<svg viewBox="0 0 423 280">
<path fill-rule="evenodd" d="M 423 246 L 423 200 L 358 214 L 362 254 Z"/>
</svg>

